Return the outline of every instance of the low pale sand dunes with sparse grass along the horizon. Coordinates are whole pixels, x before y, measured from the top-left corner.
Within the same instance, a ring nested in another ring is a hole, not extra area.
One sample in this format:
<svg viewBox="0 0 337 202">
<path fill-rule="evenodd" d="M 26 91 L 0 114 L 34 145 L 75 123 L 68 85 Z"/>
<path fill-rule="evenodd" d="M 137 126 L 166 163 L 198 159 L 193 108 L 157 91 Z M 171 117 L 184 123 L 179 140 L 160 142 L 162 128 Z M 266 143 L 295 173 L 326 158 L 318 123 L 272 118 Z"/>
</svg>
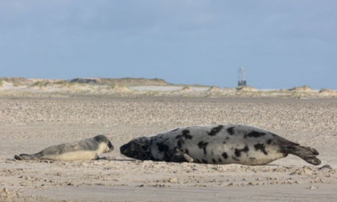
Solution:
<svg viewBox="0 0 337 202">
<path fill-rule="evenodd" d="M 253 86 L 220 88 L 218 86 L 175 85 L 161 79 L 136 78 L 76 78 L 73 80 L 0 78 L 0 95 L 41 96 L 58 93 L 68 94 L 102 94 L 130 96 L 248 96 L 248 97 L 336 97 L 333 89 L 314 90 L 303 85 L 291 89 L 257 89 Z"/>
</svg>

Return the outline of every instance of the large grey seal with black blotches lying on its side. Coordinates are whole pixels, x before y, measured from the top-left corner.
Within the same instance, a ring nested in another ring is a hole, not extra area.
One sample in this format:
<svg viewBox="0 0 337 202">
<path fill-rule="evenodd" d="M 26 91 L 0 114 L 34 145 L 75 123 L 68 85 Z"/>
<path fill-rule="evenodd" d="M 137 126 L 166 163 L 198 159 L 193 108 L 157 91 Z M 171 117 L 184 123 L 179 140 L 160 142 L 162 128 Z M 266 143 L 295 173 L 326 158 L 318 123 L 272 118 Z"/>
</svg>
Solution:
<svg viewBox="0 0 337 202">
<path fill-rule="evenodd" d="M 135 138 L 121 146 L 120 152 L 138 160 L 243 165 L 265 165 L 290 153 L 310 164 L 320 164 L 315 149 L 248 125 L 177 128 Z"/>
</svg>

